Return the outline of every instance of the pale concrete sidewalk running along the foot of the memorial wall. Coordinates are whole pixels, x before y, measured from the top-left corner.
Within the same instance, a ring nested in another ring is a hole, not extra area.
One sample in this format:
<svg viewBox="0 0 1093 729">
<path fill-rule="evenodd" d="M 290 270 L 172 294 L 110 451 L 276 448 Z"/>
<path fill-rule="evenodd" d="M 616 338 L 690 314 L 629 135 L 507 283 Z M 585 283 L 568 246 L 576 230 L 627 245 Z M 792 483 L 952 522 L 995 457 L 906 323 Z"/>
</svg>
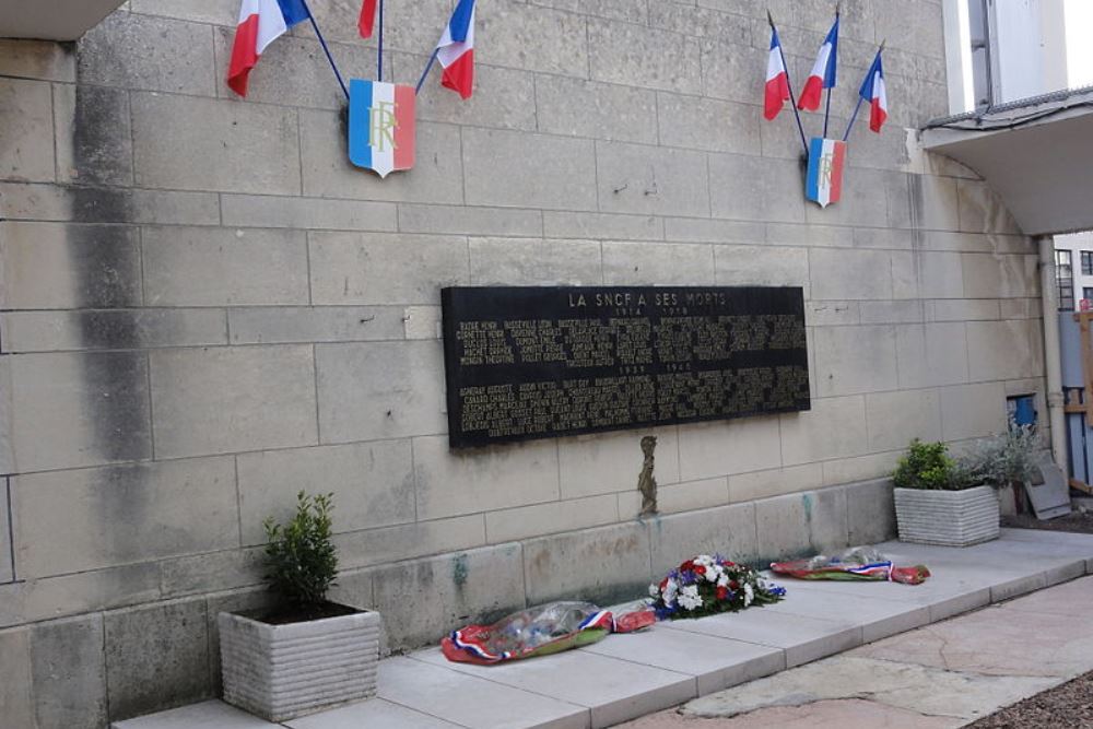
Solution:
<svg viewBox="0 0 1093 729">
<path fill-rule="evenodd" d="M 784 580 L 789 595 L 776 605 L 660 623 L 638 634 L 609 636 L 580 650 L 510 665 L 454 665 L 431 648 L 381 661 L 378 698 L 289 721 L 285 726 L 292 729 L 589 729 L 613 726 L 776 673 L 773 679 L 739 687 L 730 696 L 715 695 L 693 702 L 686 713 L 725 716 L 756 709 L 744 717 L 724 719 L 726 727 L 759 726 L 741 721 L 754 720 L 765 712 L 807 710 L 832 713 L 841 729 L 959 726 L 977 713 L 1001 705 L 998 702 L 1012 703 L 1093 668 L 1093 616 L 1080 618 L 1089 600 L 1078 599 L 1078 593 L 1093 597 L 1093 579 L 932 626 L 928 628 L 927 637 L 933 636 L 929 639 L 918 637 L 916 632 L 908 634 L 914 637 L 882 640 L 992 602 L 1093 574 L 1093 536 L 1003 530 L 998 541 L 963 550 L 900 542 L 878 546 L 897 564 L 925 563 L 933 576 L 918 586 Z M 1066 611 L 1060 612 L 1060 604 Z M 967 631 L 951 627 L 964 621 L 973 627 Z M 1045 652 L 1035 652 L 1033 646 L 1033 639 L 1042 636 L 1030 635 L 1029 628 L 1037 625 L 1036 621 L 1059 624 L 1043 638 Z M 1076 626 L 1078 635 L 1088 637 L 1084 642 L 1072 638 L 1067 626 Z M 965 633 L 974 637 L 963 637 Z M 1021 635 L 1024 638 L 1020 655 L 999 647 Z M 863 644 L 872 645 L 859 648 Z M 961 648 L 954 651 L 952 646 Z M 833 659 L 841 663 L 821 661 L 779 673 L 855 648 Z M 1022 656 L 1024 659 L 1018 660 Z M 931 660 L 940 661 L 940 666 Z M 1089 667 L 1084 667 L 1086 660 L 1091 662 Z M 893 669 L 903 666 L 901 661 L 907 666 Z M 1042 670 L 1027 672 L 1033 663 L 1042 666 Z M 983 694 L 991 697 L 973 698 L 973 694 L 979 694 L 968 689 L 918 707 L 922 713 L 913 706 L 943 685 L 938 674 L 964 671 L 997 673 L 998 680 L 980 682 L 994 685 L 991 692 Z M 874 682 L 863 683 L 868 680 Z M 828 687 L 823 689 L 825 685 Z M 812 697 L 801 701 L 809 703 L 808 707 L 764 708 L 797 702 L 810 695 L 809 691 Z M 828 695 L 830 701 L 813 703 Z M 870 701 L 881 695 L 906 698 L 902 704 L 900 699 Z M 964 696 L 967 701 L 957 701 Z M 943 710 L 947 701 L 949 713 Z M 954 712 L 951 707 L 957 705 L 960 709 Z M 847 718 L 848 710 L 857 712 L 853 715 L 857 718 Z M 897 715 L 900 712 L 906 716 Z M 786 714 L 763 721 L 764 726 L 792 726 L 789 722 L 800 718 L 815 729 L 812 725 L 824 716 L 827 714 L 800 717 Z M 896 724 L 885 724 L 890 719 Z M 900 724 L 904 720 L 926 722 Z M 648 717 L 634 726 L 687 724 L 693 722 L 672 712 Z M 277 725 L 220 702 L 205 702 L 114 726 L 117 729 L 261 729 Z"/>
</svg>

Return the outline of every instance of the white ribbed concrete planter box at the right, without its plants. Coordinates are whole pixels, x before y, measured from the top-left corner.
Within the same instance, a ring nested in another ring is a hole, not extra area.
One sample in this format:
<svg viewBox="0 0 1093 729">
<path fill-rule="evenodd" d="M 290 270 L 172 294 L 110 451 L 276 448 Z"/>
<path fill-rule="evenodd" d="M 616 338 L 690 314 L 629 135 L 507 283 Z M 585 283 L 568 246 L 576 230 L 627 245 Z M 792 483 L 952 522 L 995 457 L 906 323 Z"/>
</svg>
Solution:
<svg viewBox="0 0 1093 729">
<path fill-rule="evenodd" d="M 998 494 L 990 486 L 895 489 L 894 494 L 902 542 L 968 546 L 998 539 Z"/>
</svg>

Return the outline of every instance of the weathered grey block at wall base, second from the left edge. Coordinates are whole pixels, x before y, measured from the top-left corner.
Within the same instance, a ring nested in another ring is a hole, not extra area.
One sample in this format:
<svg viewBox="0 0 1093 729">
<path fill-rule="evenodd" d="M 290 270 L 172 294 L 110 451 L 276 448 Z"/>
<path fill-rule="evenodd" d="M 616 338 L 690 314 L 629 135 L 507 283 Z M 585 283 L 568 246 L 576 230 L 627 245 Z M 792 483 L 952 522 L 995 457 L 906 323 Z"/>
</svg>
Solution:
<svg viewBox="0 0 1093 729">
<path fill-rule="evenodd" d="M 38 623 L 32 628 L 31 677 L 37 724 L 31 726 L 106 726 L 109 704 L 103 639 L 101 615 Z"/>
</svg>

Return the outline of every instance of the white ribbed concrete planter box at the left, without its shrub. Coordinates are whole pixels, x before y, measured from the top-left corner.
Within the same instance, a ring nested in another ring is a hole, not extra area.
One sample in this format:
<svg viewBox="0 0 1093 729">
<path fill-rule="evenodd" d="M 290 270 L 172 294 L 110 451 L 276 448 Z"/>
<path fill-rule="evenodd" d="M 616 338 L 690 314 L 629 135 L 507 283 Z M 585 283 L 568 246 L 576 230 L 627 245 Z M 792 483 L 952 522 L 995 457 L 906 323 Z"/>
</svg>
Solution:
<svg viewBox="0 0 1093 729">
<path fill-rule="evenodd" d="M 224 701 L 283 721 L 376 693 L 379 613 L 270 625 L 222 612 Z"/>
</svg>

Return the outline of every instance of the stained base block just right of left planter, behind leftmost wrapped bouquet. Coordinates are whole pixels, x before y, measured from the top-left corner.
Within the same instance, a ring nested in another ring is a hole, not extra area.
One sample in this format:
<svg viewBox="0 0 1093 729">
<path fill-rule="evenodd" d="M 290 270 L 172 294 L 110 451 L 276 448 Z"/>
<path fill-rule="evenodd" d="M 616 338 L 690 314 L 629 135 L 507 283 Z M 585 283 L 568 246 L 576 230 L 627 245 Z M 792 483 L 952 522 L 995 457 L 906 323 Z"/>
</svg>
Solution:
<svg viewBox="0 0 1093 729">
<path fill-rule="evenodd" d="M 375 608 L 391 648 L 432 643 L 469 622 L 491 622 L 525 605 L 519 544 L 500 544 L 373 573 Z"/>
</svg>

